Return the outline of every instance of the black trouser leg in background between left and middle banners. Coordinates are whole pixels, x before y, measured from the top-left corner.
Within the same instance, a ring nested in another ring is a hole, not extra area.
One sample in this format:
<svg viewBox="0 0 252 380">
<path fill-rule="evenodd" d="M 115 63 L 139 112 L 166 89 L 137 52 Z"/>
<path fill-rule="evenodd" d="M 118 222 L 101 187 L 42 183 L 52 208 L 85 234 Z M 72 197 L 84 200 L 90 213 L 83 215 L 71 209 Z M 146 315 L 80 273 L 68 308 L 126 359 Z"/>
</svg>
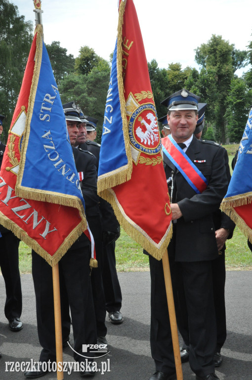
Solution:
<svg viewBox="0 0 252 380">
<path fill-rule="evenodd" d="M 122 307 L 122 291 L 116 270 L 115 247 L 116 242 L 104 247 L 102 280 L 107 312 L 120 311 Z"/>
</svg>

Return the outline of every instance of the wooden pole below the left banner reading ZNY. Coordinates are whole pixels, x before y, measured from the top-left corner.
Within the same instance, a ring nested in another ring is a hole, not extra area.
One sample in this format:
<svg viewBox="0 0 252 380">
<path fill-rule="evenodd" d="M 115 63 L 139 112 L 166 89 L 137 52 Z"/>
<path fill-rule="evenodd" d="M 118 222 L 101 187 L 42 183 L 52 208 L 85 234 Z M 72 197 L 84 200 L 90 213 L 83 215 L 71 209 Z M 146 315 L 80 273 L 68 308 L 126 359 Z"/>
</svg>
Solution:
<svg viewBox="0 0 252 380">
<path fill-rule="evenodd" d="M 59 362 L 61 362 L 63 366 L 60 289 L 59 289 L 59 263 L 57 263 L 56 265 L 52 267 L 52 282 L 53 282 L 54 319 L 55 319 L 57 380 L 63 380 L 64 372 L 59 371 L 59 366 L 58 366 Z"/>
</svg>

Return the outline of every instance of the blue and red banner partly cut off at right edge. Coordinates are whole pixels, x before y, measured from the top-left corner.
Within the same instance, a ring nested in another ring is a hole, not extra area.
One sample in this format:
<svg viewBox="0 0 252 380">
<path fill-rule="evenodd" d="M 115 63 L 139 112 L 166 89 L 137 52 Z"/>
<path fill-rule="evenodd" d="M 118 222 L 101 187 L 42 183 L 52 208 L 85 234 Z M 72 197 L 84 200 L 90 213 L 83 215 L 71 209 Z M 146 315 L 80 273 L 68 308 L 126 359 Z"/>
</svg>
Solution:
<svg viewBox="0 0 252 380">
<path fill-rule="evenodd" d="M 237 162 L 220 208 L 252 242 L 252 109 L 240 142 Z"/>
</svg>

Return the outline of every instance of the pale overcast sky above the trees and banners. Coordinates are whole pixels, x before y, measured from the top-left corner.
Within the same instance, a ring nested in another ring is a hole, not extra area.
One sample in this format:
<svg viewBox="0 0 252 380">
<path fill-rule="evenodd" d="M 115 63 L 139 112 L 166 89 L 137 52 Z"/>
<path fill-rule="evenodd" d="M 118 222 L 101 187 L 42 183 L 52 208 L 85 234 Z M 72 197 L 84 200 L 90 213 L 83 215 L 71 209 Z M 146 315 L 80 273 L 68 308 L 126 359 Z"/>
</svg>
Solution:
<svg viewBox="0 0 252 380">
<path fill-rule="evenodd" d="M 33 0 L 10 2 L 35 26 Z M 194 49 L 212 34 L 240 50 L 252 41 L 251 0 L 134 0 L 134 4 L 147 61 L 155 58 L 160 68 L 172 62 L 198 68 Z M 42 0 L 42 10 L 46 44 L 59 41 L 74 57 L 87 45 L 109 59 L 117 36 L 118 0 Z"/>
</svg>

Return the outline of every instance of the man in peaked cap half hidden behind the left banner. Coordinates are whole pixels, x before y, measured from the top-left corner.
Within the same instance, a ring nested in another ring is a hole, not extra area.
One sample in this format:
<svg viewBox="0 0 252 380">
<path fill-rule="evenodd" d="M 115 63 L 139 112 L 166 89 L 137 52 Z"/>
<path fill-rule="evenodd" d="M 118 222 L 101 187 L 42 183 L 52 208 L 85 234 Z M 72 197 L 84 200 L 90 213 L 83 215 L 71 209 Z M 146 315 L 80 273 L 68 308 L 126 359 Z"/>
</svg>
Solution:
<svg viewBox="0 0 252 380">
<path fill-rule="evenodd" d="M 81 124 L 80 114 L 75 103 L 63 104 L 69 140 L 73 146 Z M 62 128 L 64 128 L 62 126 Z M 81 189 L 85 201 L 85 210 L 98 204 L 97 174 L 95 157 L 88 152 L 81 152 L 73 147 L 76 169 L 80 175 Z M 60 169 L 58 169 L 60 170 Z M 82 180 L 81 180 L 82 179 Z M 67 220 L 66 220 L 67 223 Z M 83 233 L 59 261 L 60 303 L 62 315 L 63 347 L 68 346 L 71 319 L 74 333 L 74 359 L 84 362 L 83 344 L 96 344 L 95 314 L 90 281 L 90 242 Z M 51 267 L 36 252 L 32 252 L 32 273 L 36 295 L 38 335 L 42 351 L 40 363 L 56 361 L 54 304 L 52 292 Z M 92 362 L 93 352 L 87 348 L 86 356 Z M 48 372 L 48 367 L 39 364 L 36 370 L 25 372 L 25 377 L 35 379 Z M 93 377 L 95 373 L 87 369 L 80 370 L 81 377 Z"/>
</svg>

